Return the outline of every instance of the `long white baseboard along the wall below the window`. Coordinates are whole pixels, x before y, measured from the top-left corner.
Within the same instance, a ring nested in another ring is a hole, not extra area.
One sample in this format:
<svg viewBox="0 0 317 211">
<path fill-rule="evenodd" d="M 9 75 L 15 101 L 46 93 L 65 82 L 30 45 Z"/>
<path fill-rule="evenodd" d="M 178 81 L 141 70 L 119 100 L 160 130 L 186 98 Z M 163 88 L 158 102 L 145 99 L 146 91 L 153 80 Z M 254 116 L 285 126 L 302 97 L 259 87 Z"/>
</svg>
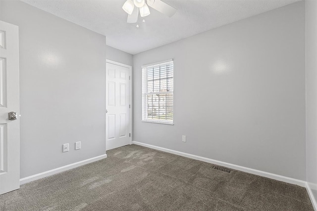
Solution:
<svg viewBox="0 0 317 211">
<path fill-rule="evenodd" d="M 256 174 L 256 175 L 259 175 L 259 176 L 264 176 L 264 177 L 267 177 L 267 178 L 270 178 L 270 179 L 275 179 L 275 180 L 278 180 L 278 181 L 287 182 L 287 183 L 299 185 L 299 186 L 302 186 L 302 187 L 306 187 L 306 181 L 303 181 L 303 180 L 294 179 L 294 178 L 290 178 L 290 177 L 287 177 L 287 176 L 282 176 L 282 175 L 278 175 L 278 174 L 274 174 L 274 173 L 269 173 L 269 172 L 265 172 L 265 171 L 262 171 L 262 170 L 242 167 L 242 166 L 238 166 L 238 165 L 235 165 L 235 164 L 229 164 L 229 163 L 222 162 L 222 161 L 216 161 L 216 160 L 213 160 L 213 159 L 210 159 L 210 158 L 204 158 L 204 157 L 201 157 L 201 156 L 192 155 L 192 154 L 188 154 L 188 153 L 184 153 L 184 152 L 179 152 L 179 151 L 175 151 L 175 150 L 171 150 L 171 149 L 166 149 L 166 148 L 163 148 L 163 147 L 158 147 L 158 146 L 145 144 L 145 143 L 141 143 L 141 142 L 137 142 L 137 141 L 132 141 L 132 143 L 136 144 L 136 145 L 140 145 L 140 146 L 144 146 L 144 147 L 160 150 L 160 151 L 163 151 L 163 152 L 168 152 L 168 153 L 171 153 L 171 154 L 180 155 L 180 156 L 183 156 L 183 157 L 186 157 L 186 158 L 191 158 L 191 159 L 203 161 L 203 162 L 206 162 L 206 163 L 211 163 L 211 164 L 227 167 L 227 168 L 230 168 L 230 169 L 236 169 L 236 170 L 244 171 L 244 172 L 247 172 L 247 173 Z"/>
</svg>

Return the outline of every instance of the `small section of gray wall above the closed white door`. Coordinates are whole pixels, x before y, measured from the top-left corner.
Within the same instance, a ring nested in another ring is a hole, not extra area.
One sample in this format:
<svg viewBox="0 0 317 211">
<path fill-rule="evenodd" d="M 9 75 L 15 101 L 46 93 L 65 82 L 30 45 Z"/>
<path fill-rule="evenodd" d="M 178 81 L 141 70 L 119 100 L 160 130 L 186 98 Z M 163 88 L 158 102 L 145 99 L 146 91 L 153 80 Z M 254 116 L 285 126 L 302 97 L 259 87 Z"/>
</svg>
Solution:
<svg viewBox="0 0 317 211">
<path fill-rule="evenodd" d="M 115 62 L 133 66 L 133 55 L 118 50 L 109 45 L 106 46 L 106 58 Z"/>
</svg>

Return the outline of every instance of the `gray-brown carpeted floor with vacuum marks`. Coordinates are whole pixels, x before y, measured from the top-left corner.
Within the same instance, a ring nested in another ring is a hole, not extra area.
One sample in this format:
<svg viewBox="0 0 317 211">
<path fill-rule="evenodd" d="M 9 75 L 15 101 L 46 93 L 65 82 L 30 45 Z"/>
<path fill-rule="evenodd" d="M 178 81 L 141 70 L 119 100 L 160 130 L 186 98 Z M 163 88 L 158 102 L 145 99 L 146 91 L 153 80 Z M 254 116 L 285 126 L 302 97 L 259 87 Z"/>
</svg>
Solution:
<svg viewBox="0 0 317 211">
<path fill-rule="evenodd" d="M 137 146 L 22 185 L 2 211 L 314 211 L 306 189 Z"/>
</svg>

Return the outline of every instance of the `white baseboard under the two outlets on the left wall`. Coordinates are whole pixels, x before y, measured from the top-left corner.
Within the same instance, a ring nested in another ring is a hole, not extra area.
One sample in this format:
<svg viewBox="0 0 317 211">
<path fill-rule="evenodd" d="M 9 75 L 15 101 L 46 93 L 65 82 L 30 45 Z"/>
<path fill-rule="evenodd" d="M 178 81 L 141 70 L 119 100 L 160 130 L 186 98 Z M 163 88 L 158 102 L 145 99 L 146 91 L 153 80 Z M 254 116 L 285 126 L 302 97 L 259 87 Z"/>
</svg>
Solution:
<svg viewBox="0 0 317 211">
<path fill-rule="evenodd" d="M 76 163 L 73 163 L 73 164 L 69 164 L 69 165 L 66 165 L 66 166 L 63 166 L 63 167 L 59 167 L 59 168 L 56 168 L 56 169 L 44 171 L 42 173 L 38 173 L 38 174 L 31 175 L 31 176 L 27 176 L 27 177 L 24 177 L 24 178 L 20 179 L 20 185 L 28 183 L 28 182 L 32 182 L 32 181 L 35 181 L 35 180 L 38 180 L 38 179 L 41 179 L 41 178 L 44 178 L 44 177 L 47 177 L 47 176 L 51 176 L 51 175 L 53 175 L 55 173 L 59 173 L 59 172 L 62 172 L 62 171 L 65 171 L 65 170 L 69 170 L 69 169 L 74 169 L 76 167 L 80 167 L 80 166 L 83 166 L 85 164 L 93 163 L 95 161 L 102 160 L 102 159 L 104 159 L 106 157 L 107 157 L 107 155 L 104 154 L 104 155 L 100 155 L 100 156 L 97 156 L 97 157 L 94 157 L 94 158 L 89 158 L 89 159 L 84 160 L 84 161 L 79 161 L 79 162 L 76 162 Z"/>
</svg>

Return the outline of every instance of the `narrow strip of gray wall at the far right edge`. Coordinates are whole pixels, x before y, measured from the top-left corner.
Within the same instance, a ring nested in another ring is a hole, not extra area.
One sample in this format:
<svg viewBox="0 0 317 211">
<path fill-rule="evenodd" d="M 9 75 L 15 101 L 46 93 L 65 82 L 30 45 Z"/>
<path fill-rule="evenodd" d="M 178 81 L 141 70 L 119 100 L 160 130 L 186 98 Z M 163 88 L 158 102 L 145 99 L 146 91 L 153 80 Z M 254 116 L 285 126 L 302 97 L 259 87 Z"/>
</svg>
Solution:
<svg viewBox="0 0 317 211">
<path fill-rule="evenodd" d="M 306 1 L 307 182 L 317 201 L 317 0 Z"/>
</svg>

